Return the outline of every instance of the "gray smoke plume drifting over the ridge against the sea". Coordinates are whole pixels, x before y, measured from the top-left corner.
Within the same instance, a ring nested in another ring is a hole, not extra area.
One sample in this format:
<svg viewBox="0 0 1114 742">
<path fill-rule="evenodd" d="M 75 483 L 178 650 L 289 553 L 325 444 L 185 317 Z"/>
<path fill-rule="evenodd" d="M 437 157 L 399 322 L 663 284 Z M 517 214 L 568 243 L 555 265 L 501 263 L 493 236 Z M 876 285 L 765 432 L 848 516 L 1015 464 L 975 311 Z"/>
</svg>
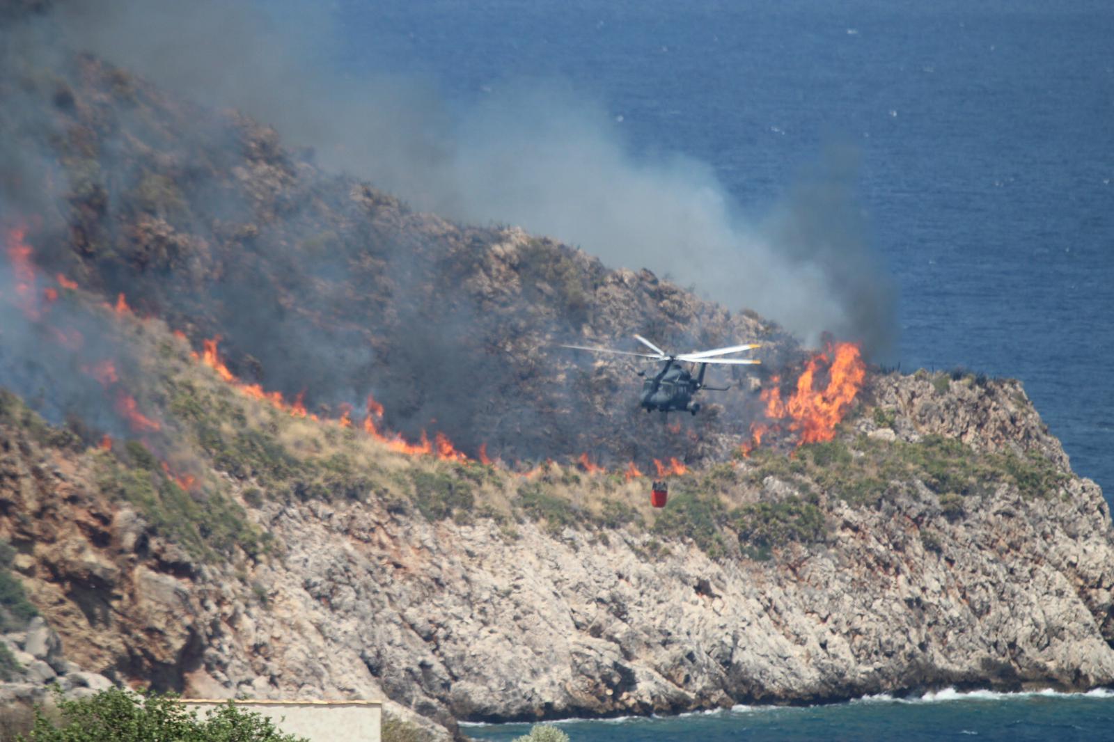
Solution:
<svg viewBox="0 0 1114 742">
<path fill-rule="evenodd" d="M 808 344 L 830 331 L 877 354 L 895 339 L 892 285 L 868 247 L 847 152 L 753 224 L 709 165 L 635 157 L 604 106 L 560 82 L 522 81 L 456 113 L 421 80 L 338 75 L 322 61 L 336 29 L 320 3 L 284 3 L 282 20 L 246 0 L 72 0 L 59 12 L 67 45 L 245 110 L 419 208 L 667 273 Z"/>
</svg>

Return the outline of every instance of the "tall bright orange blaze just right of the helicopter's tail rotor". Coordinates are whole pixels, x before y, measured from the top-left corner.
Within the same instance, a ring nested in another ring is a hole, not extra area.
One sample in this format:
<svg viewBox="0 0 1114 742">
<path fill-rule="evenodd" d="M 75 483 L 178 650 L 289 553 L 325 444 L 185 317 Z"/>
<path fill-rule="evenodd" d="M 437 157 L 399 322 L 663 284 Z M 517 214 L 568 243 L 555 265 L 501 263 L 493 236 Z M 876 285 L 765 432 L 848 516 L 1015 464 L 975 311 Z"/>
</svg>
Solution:
<svg viewBox="0 0 1114 742">
<path fill-rule="evenodd" d="M 825 372 L 828 382 L 819 381 L 821 388 L 818 388 L 818 380 Z M 867 364 L 858 344 L 829 343 L 823 352 L 809 359 L 788 399 L 782 398 L 781 379 L 772 379 L 773 383 L 761 396 L 765 417 L 771 421 L 788 421 L 785 427 L 797 433 L 798 446 L 831 440 L 866 378 Z M 750 455 L 771 428 L 768 423 L 752 424 L 751 441 L 741 447 L 743 456 Z"/>
</svg>

